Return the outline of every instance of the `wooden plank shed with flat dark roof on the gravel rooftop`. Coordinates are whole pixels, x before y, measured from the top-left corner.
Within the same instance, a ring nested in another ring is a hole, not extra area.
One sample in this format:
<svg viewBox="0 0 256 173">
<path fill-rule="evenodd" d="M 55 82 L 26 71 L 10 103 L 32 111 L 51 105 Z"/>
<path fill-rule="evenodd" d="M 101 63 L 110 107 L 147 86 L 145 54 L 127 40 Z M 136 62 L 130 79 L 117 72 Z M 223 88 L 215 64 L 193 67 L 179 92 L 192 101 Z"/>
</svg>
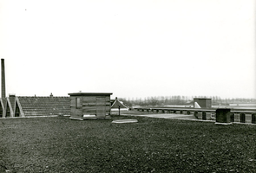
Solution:
<svg viewBox="0 0 256 173">
<path fill-rule="evenodd" d="M 105 119 L 110 114 L 112 93 L 69 93 L 70 119 Z"/>
</svg>

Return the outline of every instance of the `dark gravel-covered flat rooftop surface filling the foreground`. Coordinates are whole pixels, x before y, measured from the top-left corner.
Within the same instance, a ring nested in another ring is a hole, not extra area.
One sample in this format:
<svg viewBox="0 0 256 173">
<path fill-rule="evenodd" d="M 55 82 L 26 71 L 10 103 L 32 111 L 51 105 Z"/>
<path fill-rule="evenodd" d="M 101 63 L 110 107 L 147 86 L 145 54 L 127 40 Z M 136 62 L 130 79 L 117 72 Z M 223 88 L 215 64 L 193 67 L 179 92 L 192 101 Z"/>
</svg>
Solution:
<svg viewBox="0 0 256 173">
<path fill-rule="evenodd" d="M 113 119 L 0 119 L 0 172 L 256 172 L 256 125 Z"/>
</svg>

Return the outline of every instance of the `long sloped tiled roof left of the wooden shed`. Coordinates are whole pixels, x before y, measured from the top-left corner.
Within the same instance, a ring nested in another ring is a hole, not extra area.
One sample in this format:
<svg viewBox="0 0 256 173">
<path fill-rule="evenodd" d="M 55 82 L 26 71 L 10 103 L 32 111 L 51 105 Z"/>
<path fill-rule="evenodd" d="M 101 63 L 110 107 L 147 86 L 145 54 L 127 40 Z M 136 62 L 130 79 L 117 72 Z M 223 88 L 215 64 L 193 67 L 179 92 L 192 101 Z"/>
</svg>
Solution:
<svg viewBox="0 0 256 173">
<path fill-rule="evenodd" d="M 24 116 L 70 115 L 69 97 L 17 97 Z M 19 105 L 17 104 L 17 105 Z M 17 107 L 16 107 L 17 108 Z"/>
</svg>

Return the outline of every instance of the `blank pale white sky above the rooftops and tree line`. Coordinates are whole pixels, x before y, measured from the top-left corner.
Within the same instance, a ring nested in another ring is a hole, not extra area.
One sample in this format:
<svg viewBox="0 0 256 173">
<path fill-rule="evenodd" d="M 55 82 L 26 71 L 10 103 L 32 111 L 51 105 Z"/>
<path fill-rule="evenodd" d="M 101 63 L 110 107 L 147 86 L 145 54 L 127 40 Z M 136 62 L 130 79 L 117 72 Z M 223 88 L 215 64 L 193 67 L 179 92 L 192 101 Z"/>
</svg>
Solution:
<svg viewBox="0 0 256 173">
<path fill-rule="evenodd" d="M 256 98 L 254 0 L 0 0 L 6 93 Z"/>
</svg>

